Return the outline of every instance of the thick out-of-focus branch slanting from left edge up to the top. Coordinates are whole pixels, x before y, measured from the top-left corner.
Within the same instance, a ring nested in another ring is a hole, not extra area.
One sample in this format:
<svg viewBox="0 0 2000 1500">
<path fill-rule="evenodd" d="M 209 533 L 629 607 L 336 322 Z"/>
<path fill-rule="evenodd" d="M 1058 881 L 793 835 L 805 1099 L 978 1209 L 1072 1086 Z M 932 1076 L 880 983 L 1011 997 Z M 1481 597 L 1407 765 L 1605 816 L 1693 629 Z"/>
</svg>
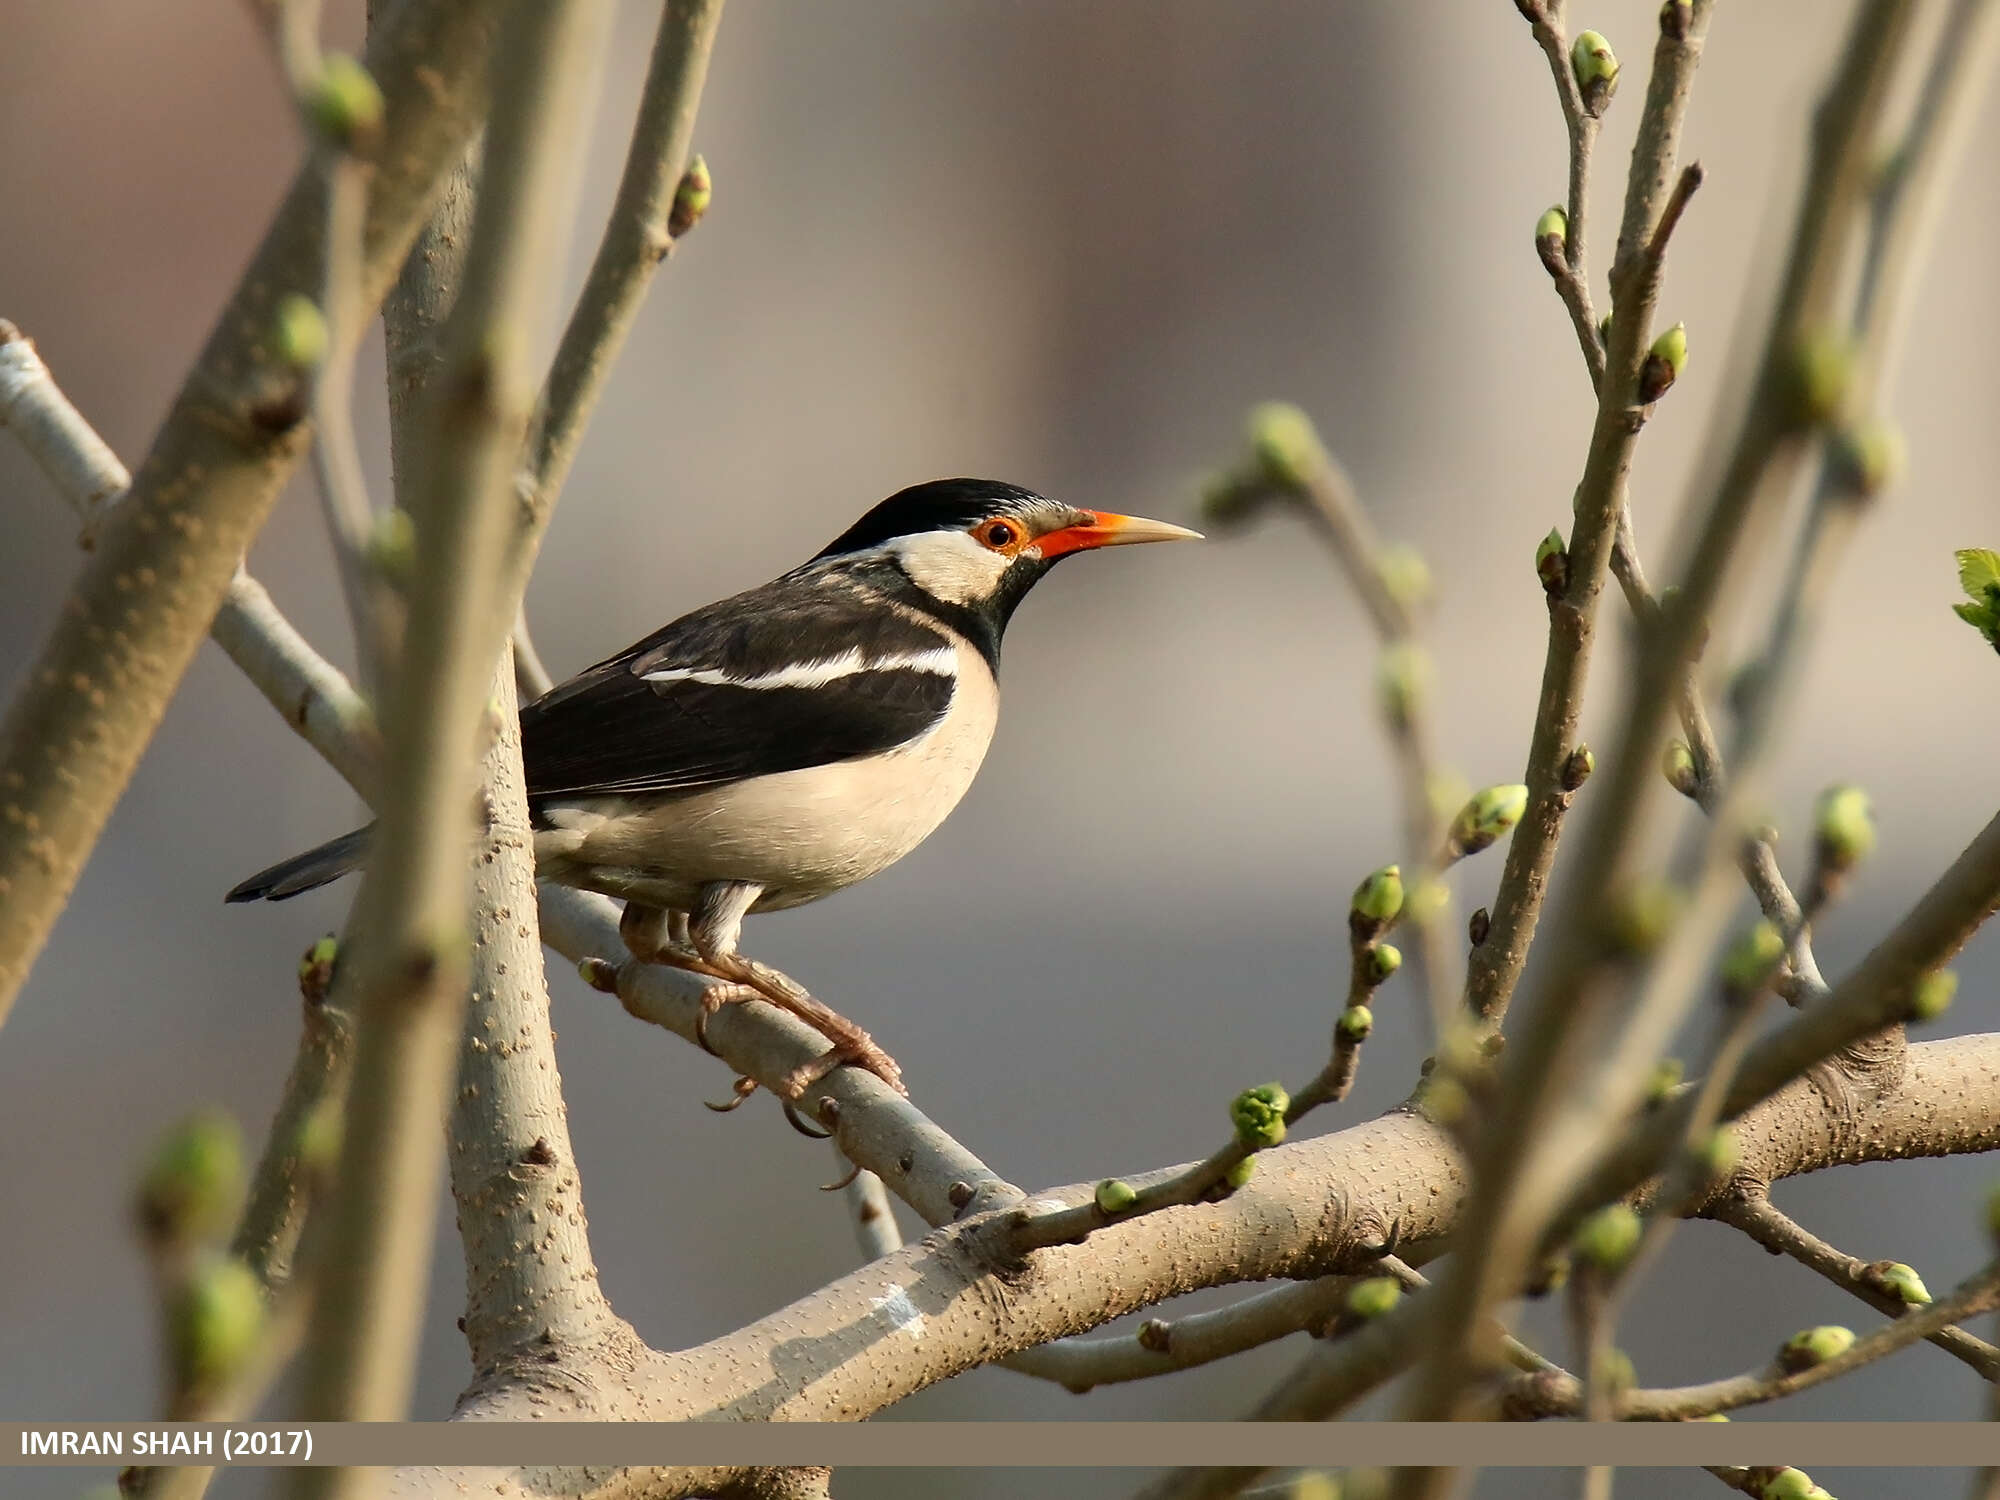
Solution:
<svg viewBox="0 0 2000 1500">
<path fill-rule="evenodd" d="M 368 52 L 386 112 L 364 306 L 382 296 L 484 114 L 498 10 L 498 0 L 408 0 Z M 316 292 L 322 266 L 324 204 L 306 170 L 0 724 L 0 786 L 18 814 L 0 824 L 0 1020 L 306 450 L 300 378 L 274 368 L 268 344 L 278 300 Z"/>
</svg>

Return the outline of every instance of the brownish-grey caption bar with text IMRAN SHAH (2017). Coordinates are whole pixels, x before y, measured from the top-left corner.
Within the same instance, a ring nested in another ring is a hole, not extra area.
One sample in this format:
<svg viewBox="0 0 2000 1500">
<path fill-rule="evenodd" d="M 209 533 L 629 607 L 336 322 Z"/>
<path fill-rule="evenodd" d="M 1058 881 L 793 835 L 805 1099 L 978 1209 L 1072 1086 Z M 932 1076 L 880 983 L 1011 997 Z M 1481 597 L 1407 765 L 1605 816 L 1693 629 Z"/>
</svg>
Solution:
<svg viewBox="0 0 2000 1500">
<path fill-rule="evenodd" d="M 34 1434 L 36 1440 L 30 1440 Z M 58 1452 L 44 1448 L 56 1434 Z M 60 1434 L 98 1434 L 60 1452 Z M 136 1452 L 186 1434 L 194 1452 Z M 260 1436 L 252 1436 L 260 1434 Z M 200 1438 L 206 1436 L 206 1450 Z M 120 1452 L 108 1452 L 118 1438 Z M 228 1448 L 226 1448 L 228 1444 Z M 270 1448 L 276 1446 L 276 1454 Z M 258 1454 L 256 1448 L 264 1448 Z M 310 1454 L 310 1458 L 308 1458 Z M 0 1422 L 0 1466 L 1318 1468 L 2000 1464 L 1992 1422 Z"/>
</svg>

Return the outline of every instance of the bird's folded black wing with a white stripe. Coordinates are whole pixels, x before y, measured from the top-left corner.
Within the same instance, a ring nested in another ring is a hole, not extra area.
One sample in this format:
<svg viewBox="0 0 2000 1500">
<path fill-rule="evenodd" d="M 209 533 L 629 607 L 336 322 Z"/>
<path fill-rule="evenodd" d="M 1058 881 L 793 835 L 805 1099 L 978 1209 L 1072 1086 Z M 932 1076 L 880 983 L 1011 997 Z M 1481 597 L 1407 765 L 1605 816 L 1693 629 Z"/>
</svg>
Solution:
<svg viewBox="0 0 2000 1500">
<path fill-rule="evenodd" d="M 694 792 L 890 750 L 950 708 L 950 646 L 862 590 L 788 574 L 528 704 L 528 798 Z M 788 686 L 800 676 L 824 680 Z"/>
</svg>

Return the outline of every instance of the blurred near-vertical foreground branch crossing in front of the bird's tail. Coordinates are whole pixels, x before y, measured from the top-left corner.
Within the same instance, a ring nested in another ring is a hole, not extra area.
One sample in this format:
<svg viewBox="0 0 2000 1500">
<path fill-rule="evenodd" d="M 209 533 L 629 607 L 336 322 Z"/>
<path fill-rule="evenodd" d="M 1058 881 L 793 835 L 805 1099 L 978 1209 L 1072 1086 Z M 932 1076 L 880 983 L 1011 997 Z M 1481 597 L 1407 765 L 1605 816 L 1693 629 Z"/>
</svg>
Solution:
<svg viewBox="0 0 2000 1500">
<path fill-rule="evenodd" d="M 584 98 L 608 34 L 604 0 L 520 6 L 496 64 L 496 108 L 464 286 L 426 406 L 422 536 L 410 624 L 384 736 L 376 848 L 356 898 L 358 1046 L 342 1170 L 328 1206 L 324 1288 L 314 1308 L 304 1410 L 322 1418 L 404 1414 L 464 1018 L 462 934 L 474 738 L 520 592 L 504 574 L 512 476 L 534 392 L 526 330 L 560 258 L 548 202 L 570 170 Z M 348 1494 L 354 1472 L 302 1470 L 302 1494 Z"/>
</svg>

